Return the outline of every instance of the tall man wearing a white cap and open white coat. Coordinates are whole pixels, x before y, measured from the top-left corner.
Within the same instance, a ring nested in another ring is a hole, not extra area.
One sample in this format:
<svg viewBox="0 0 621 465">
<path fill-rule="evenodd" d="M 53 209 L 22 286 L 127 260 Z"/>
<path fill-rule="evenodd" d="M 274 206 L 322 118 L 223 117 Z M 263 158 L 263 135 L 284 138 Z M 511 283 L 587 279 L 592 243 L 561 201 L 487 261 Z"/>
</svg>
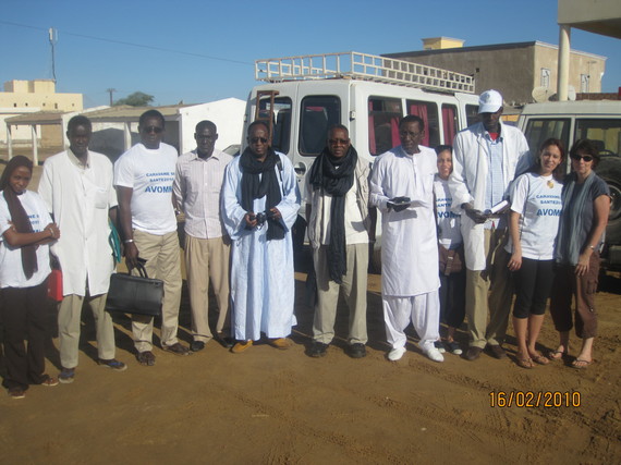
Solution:
<svg viewBox="0 0 621 465">
<path fill-rule="evenodd" d="M 465 354 L 475 360 L 487 345 L 491 356 L 507 356 L 507 331 L 512 286 L 507 268 L 507 217 L 500 208 L 509 186 L 531 164 L 522 132 L 502 124 L 502 96 L 486 90 L 478 99 L 480 122 L 461 131 L 453 143 L 453 172 L 449 188 L 453 209 L 462 212 L 466 262 L 466 316 L 471 335 Z M 489 293 L 488 297 L 488 291 Z M 487 313 L 490 313 L 487 325 Z"/>
</svg>

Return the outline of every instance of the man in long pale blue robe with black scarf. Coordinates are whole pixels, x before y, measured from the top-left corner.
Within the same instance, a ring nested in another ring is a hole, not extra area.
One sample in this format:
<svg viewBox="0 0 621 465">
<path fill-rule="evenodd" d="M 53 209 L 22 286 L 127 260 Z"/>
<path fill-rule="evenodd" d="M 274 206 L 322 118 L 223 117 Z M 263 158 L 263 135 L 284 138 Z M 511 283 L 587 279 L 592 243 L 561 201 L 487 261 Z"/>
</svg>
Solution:
<svg viewBox="0 0 621 465">
<path fill-rule="evenodd" d="M 300 209 L 295 172 L 284 155 L 271 149 L 264 122 L 248 126 L 247 139 L 248 147 L 227 167 L 222 186 L 222 217 L 231 237 L 233 353 L 248 348 L 261 332 L 271 345 L 288 348 L 287 336 L 296 322 L 291 236 Z"/>
</svg>

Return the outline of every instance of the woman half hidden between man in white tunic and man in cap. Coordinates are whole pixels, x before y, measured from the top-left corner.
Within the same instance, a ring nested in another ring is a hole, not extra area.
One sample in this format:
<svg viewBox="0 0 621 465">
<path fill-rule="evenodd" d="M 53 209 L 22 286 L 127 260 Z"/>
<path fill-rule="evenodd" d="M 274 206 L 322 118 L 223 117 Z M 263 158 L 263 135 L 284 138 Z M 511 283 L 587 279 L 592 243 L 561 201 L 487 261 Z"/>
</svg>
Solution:
<svg viewBox="0 0 621 465">
<path fill-rule="evenodd" d="M 461 355 L 462 350 L 454 334 L 465 317 L 465 267 L 461 217 L 451 211 L 453 199 L 449 191 L 449 175 L 453 171 L 452 147 L 439 145 L 436 154 L 438 174 L 434 180 L 434 199 L 440 256 L 440 320 L 447 325 L 447 338 L 443 343 L 436 341 L 435 345 L 440 352 Z"/>
</svg>

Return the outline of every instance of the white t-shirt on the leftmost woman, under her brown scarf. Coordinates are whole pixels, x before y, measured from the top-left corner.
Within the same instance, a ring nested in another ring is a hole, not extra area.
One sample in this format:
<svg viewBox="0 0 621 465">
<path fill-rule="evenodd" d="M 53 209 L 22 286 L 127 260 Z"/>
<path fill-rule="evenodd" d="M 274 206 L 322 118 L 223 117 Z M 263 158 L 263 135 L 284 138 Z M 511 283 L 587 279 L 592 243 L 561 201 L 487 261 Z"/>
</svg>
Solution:
<svg viewBox="0 0 621 465">
<path fill-rule="evenodd" d="M 7 186 L 7 188 L 11 187 Z M 26 191 L 17 198 L 26 210 L 33 232 L 41 232 L 45 227 L 52 222 L 46 204 L 37 193 Z M 4 234 L 11 228 L 9 221 L 12 221 L 11 213 L 4 194 L 0 191 L 0 234 Z M 21 247 L 11 247 L 4 237 L 0 236 L 0 287 L 32 287 L 42 283 L 51 272 L 49 245 L 39 245 L 36 255 L 38 270 L 33 273 L 31 279 L 26 279 L 22 266 Z"/>
</svg>

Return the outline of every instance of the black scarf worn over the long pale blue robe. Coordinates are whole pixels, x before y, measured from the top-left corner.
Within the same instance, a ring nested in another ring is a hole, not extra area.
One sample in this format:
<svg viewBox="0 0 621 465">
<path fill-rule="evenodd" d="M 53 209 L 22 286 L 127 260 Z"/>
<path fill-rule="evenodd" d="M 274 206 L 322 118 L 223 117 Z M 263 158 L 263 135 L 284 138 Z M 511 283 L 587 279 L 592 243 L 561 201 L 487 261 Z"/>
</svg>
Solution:
<svg viewBox="0 0 621 465">
<path fill-rule="evenodd" d="M 280 204 L 282 195 L 280 193 L 280 184 L 276 175 L 276 166 L 280 161 L 279 156 L 271 147 L 268 148 L 267 156 L 264 161 L 258 161 L 253 155 L 249 147 L 246 147 L 241 155 L 240 167 L 242 168 L 242 208 L 246 211 L 258 213 L 253 210 L 255 198 L 261 198 L 267 195 L 265 209 Z M 259 174 L 260 180 L 259 180 Z M 267 240 L 284 238 L 284 225 L 281 221 L 267 221 Z"/>
</svg>

